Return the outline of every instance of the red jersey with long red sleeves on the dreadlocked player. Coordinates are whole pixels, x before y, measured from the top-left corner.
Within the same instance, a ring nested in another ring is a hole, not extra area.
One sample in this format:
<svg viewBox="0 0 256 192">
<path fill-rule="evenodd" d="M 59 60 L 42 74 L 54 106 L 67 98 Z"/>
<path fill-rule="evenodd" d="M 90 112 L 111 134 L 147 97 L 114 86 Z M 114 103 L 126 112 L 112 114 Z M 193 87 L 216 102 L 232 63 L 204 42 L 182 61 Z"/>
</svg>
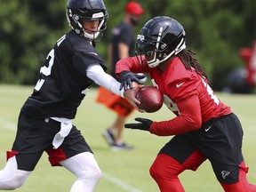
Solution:
<svg viewBox="0 0 256 192">
<path fill-rule="evenodd" d="M 124 70 L 149 73 L 152 83 L 164 96 L 164 104 L 177 116 L 169 121 L 154 122 L 150 127 L 152 133 L 173 135 L 193 131 L 211 118 L 231 113 L 231 109 L 214 95 L 207 79 L 193 68 L 185 68 L 179 57 L 171 60 L 164 72 L 157 67 L 140 65 L 136 57 L 117 63 L 116 74 Z"/>
</svg>

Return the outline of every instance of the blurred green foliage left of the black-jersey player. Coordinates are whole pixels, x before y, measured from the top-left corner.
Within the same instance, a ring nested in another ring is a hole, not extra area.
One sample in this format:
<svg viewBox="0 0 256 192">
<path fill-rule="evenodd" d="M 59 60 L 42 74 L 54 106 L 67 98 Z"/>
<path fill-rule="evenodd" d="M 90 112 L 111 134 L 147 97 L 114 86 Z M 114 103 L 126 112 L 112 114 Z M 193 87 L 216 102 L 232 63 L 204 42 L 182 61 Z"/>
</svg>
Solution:
<svg viewBox="0 0 256 192">
<path fill-rule="evenodd" d="M 1 1 L 0 82 L 35 84 L 38 68 L 62 35 L 66 1 Z M 64 10 L 64 12 L 63 12 Z"/>
</svg>

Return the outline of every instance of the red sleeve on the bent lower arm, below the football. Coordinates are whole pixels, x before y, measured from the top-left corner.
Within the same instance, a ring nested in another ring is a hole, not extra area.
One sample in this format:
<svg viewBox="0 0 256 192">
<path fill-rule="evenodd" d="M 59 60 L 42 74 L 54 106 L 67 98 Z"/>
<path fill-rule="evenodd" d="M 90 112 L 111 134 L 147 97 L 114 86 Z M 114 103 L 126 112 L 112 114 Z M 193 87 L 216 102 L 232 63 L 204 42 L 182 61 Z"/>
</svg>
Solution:
<svg viewBox="0 0 256 192">
<path fill-rule="evenodd" d="M 197 95 L 180 100 L 177 105 L 181 116 L 169 121 L 153 122 L 149 131 L 158 136 L 169 136 L 200 129 L 202 116 Z"/>
</svg>

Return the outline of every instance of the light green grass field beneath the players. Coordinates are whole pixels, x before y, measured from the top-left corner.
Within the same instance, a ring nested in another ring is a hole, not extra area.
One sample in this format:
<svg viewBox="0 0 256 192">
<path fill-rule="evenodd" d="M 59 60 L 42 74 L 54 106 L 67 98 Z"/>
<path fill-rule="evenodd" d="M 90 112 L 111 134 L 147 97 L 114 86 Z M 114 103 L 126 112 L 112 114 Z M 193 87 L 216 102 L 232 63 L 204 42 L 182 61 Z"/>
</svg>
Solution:
<svg viewBox="0 0 256 192">
<path fill-rule="evenodd" d="M 5 151 L 12 148 L 17 118 L 23 102 L 33 87 L 0 85 L 0 169 L 5 164 Z M 85 140 L 94 151 L 103 173 L 95 192 L 156 192 L 156 183 L 148 173 L 148 168 L 156 154 L 171 137 L 156 137 L 148 132 L 124 131 L 124 140 L 135 146 L 135 150 L 113 152 L 103 140 L 104 131 L 116 116 L 113 112 L 95 103 L 96 89 L 92 89 L 78 109 L 75 124 L 83 133 Z M 231 106 L 244 127 L 244 158 L 250 171 L 248 180 L 256 183 L 256 95 L 227 95 L 218 93 L 220 100 Z M 144 116 L 154 120 L 173 117 L 165 106 L 155 114 L 134 112 L 127 122 L 135 116 Z M 41 158 L 36 170 L 17 192 L 68 192 L 75 176 L 61 167 L 51 167 L 47 156 Z M 196 172 L 187 171 L 180 175 L 186 192 L 222 191 L 206 161 Z"/>
</svg>

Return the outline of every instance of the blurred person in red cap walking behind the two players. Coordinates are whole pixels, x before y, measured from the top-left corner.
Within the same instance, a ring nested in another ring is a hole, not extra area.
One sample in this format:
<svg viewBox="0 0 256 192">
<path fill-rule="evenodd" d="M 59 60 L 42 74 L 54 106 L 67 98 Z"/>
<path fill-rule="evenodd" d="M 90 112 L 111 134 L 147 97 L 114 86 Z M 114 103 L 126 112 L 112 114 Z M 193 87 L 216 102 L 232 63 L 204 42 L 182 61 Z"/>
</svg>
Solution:
<svg viewBox="0 0 256 192">
<path fill-rule="evenodd" d="M 116 62 L 120 59 L 134 56 L 135 34 L 134 26 L 140 23 L 140 17 L 144 10 L 137 2 L 129 2 L 125 5 L 124 20 L 113 28 L 111 44 L 108 45 L 108 59 L 111 63 L 111 76 L 116 78 Z M 117 78 L 116 78 L 117 79 Z M 147 79 L 144 79 L 144 81 Z M 113 124 L 108 125 L 108 129 L 103 132 L 108 145 L 114 150 L 131 150 L 133 147 L 124 143 L 123 132 L 126 117 L 132 111 L 132 105 L 124 98 L 100 87 L 97 102 L 104 104 L 107 108 L 116 113 Z"/>
</svg>

